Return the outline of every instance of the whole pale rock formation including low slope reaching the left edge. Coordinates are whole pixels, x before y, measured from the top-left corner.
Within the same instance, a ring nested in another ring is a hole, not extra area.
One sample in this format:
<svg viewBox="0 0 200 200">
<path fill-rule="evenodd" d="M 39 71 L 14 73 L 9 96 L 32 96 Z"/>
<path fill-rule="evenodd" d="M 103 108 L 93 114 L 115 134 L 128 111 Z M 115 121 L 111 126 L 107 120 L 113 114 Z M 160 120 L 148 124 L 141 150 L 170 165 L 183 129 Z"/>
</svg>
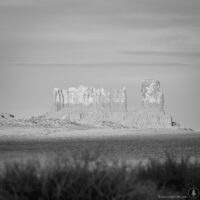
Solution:
<svg viewBox="0 0 200 200">
<path fill-rule="evenodd" d="M 146 79 L 142 82 L 140 111 L 128 112 L 126 88 L 113 92 L 84 86 L 64 90 L 54 88 L 53 98 L 53 109 L 42 116 L 23 120 L 15 119 L 9 113 L 0 113 L 0 126 L 180 128 L 165 113 L 164 94 L 158 80 Z"/>
</svg>

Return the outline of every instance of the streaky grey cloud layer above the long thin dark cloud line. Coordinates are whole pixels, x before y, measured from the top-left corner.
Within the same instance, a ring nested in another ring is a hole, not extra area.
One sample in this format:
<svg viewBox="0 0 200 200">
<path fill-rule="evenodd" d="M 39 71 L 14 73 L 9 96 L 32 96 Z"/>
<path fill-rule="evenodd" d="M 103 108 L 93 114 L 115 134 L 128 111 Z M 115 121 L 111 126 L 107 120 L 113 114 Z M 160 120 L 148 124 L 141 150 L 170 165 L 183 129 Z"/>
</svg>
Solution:
<svg viewBox="0 0 200 200">
<path fill-rule="evenodd" d="M 174 62 L 183 49 L 197 58 L 199 10 L 199 0 L 2 0 L 0 62 L 135 62 L 119 51 Z"/>
</svg>

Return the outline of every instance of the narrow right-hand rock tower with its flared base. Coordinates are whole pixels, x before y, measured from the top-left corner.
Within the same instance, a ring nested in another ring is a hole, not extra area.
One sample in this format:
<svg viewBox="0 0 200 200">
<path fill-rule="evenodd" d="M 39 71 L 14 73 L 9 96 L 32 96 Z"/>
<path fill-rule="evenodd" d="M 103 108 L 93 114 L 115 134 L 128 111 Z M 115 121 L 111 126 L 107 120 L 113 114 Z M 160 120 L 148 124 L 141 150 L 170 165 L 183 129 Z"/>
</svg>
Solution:
<svg viewBox="0 0 200 200">
<path fill-rule="evenodd" d="M 142 82 L 142 109 L 136 114 L 137 128 L 170 128 L 172 119 L 164 111 L 164 94 L 158 80 L 147 79 Z"/>
</svg>

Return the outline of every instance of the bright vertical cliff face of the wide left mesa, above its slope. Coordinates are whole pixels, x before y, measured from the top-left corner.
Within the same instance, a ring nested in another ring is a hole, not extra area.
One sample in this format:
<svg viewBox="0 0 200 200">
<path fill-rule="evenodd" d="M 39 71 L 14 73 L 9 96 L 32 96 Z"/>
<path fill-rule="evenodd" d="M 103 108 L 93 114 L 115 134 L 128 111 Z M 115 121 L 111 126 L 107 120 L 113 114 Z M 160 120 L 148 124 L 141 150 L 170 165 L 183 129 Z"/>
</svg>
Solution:
<svg viewBox="0 0 200 200">
<path fill-rule="evenodd" d="M 103 88 L 96 89 L 84 86 L 70 87 L 68 90 L 54 88 L 54 103 L 57 110 L 73 105 L 114 106 L 114 104 L 123 104 L 124 107 L 127 107 L 126 88 L 114 90 L 113 93 L 107 92 Z"/>
</svg>

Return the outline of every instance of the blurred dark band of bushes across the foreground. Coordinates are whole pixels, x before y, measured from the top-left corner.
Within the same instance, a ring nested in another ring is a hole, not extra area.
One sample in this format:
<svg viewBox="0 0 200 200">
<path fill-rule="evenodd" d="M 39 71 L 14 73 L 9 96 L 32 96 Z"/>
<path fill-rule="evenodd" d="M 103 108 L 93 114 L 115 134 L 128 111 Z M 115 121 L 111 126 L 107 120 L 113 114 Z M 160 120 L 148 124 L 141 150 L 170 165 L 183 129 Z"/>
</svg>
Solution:
<svg viewBox="0 0 200 200">
<path fill-rule="evenodd" d="M 2 200 L 155 200 L 185 195 L 200 185 L 200 165 L 188 158 L 151 159 L 132 167 L 126 162 L 83 151 L 39 161 L 5 163 L 0 171 Z"/>
</svg>

